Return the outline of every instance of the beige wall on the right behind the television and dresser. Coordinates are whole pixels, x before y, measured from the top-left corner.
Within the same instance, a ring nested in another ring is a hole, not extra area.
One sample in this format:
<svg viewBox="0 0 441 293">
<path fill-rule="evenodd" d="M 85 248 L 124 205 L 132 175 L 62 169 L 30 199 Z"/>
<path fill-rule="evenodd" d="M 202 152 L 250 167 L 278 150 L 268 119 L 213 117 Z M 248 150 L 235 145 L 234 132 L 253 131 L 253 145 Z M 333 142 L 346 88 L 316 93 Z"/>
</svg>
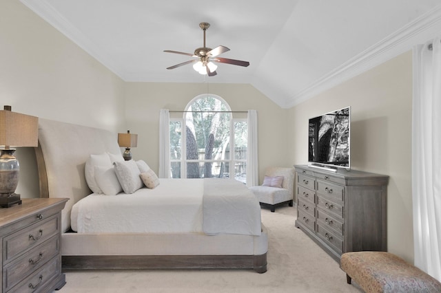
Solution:
<svg viewBox="0 0 441 293">
<path fill-rule="evenodd" d="M 388 250 L 408 261 L 413 261 L 411 103 L 407 52 L 289 109 L 289 160 L 305 164 L 308 118 L 351 106 L 351 167 L 390 176 Z"/>
</svg>

